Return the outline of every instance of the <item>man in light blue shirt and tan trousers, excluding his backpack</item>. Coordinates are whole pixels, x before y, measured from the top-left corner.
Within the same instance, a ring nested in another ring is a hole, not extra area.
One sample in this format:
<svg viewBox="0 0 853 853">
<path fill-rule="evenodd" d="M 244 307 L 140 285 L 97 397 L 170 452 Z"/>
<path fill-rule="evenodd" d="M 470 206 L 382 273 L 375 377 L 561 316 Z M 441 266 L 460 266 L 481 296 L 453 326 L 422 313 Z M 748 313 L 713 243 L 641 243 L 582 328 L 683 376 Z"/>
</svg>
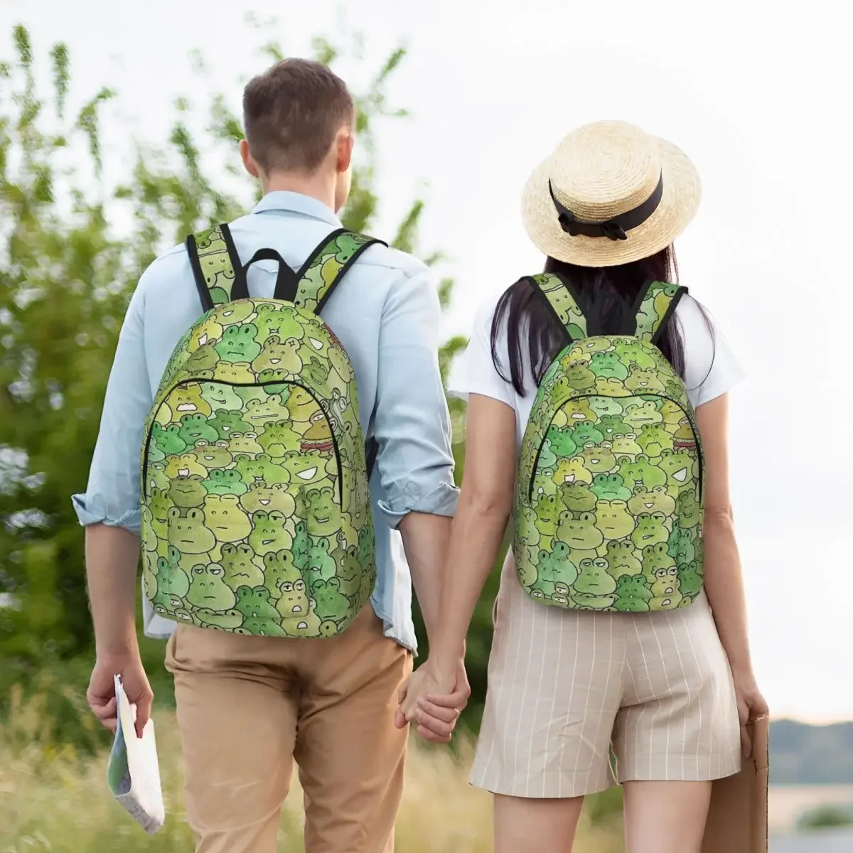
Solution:
<svg viewBox="0 0 853 853">
<path fill-rule="evenodd" d="M 340 227 L 350 190 L 354 108 L 345 84 L 315 62 L 287 60 L 244 94 L 241 156 L 264 198 L 230 226 L 243 263 L 276 249 L 294 270 Z M 276 264 L 253 264 L 253 296 L 272 296 Z M 357 259 L 322 316 L 353 365 L 362 428 L 379 446 L 371 481 L 378 578 L 367 606 L 329 639 L 245 636 L 181 624 L 166 665 L 175 676 L 186 760 L 186 803 L 198 853 L 271 853 L 293 758 L 305 790 L 308 853 L 393 849 L 407 733 L 397 692 L 415 635 L 409 570 L 394 559 L 399 530 L 427 632 L 456 507 L 449 416 L 438 372 L 438 295 L 415 258 L 374 245 Z M 186 249 L 144 272 L 129 305 L 107 386 L 88 490 L 75 496 L 86 525 L 96 664 L 89 701 L 115 725 L 113 674 L 136 702 L 152 694 L 134 624 L 139 558 L 139 454 L 165 365 L 201 315 Z M 467 698 L 419 719 L 450 739 Z"/>
</svg>

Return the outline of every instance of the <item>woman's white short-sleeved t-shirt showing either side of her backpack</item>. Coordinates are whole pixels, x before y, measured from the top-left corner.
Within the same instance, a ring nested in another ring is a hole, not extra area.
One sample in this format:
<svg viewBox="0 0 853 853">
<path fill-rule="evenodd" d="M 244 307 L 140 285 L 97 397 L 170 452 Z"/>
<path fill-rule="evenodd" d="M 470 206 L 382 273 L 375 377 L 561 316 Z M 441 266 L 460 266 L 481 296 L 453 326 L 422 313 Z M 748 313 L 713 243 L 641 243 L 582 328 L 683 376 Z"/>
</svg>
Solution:
<svg viewBox="0 0 853 853">
<path fill-rule="evenodd" d="M 536 380 L 525 345 L 521 346 L 525 374 L 524 396 L 519 395 L 512 381 L 505 380 L 495 368 L 491 357 L 491 323 L 499 298 L 492 297 L 477 312 L 471 341 L 461 356 L 450 393 L 462 398 L 467 398 L 468 394 L 481 394 L 511 406 L 515 411 L 516 439 L 520 447 L 536 397 Z M 698 408 L 702 403 L 728 392 L 744 374 L 716 323 L 692 297 L 686 295 L 681 299 L 676 306 L 675 316 L 684 341 L 684 384 L 690 402 L 694 408 Z M 509 377 L 506 321 L 502 323 L 496 344 L 502 374 Z"/>
</svg>

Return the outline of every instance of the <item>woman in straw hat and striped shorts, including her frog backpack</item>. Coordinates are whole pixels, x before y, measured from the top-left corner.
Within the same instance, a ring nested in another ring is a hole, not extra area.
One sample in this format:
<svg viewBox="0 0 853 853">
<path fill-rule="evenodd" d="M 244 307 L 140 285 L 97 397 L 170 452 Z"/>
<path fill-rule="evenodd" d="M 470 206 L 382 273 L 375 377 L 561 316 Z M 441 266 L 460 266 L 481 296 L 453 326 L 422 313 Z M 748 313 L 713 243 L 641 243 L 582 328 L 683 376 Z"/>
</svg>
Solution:
<svg viewBox="0 0 853 853">
<path fill-rule="evenodd" d="M 728 493 L 740 369 L 674 286 L 698 204 L 670 143 L 619 122 L 574 131 L 524 190 L 553 275 L 475 323 L 440 639 L 403 713 L 446 714 L 514 515 L 472 775 L 495 794 L 498 853 L 571 850 L 583 797 L 614 780 L 629 853 L 699 853 L 711 780 L 740 769 L 744 724 L 766 712 Z"/>
</svg>

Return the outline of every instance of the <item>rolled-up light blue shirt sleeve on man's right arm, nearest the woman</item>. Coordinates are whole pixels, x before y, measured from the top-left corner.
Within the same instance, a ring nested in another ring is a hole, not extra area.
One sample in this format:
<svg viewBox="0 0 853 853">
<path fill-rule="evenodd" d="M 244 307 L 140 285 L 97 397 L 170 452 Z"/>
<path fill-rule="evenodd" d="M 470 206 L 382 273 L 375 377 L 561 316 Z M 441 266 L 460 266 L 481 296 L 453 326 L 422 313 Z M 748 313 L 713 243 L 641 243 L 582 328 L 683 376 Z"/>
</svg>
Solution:
<svg viewBox="0 0 853 853">
<path fill-rule="evenodd" d="M 386 299 L 379 340 L 374 436 L 381 514 L 453 515 L 450 414 L 438 369 L 441 306 L 427 268 L 401 275 Z"/>
</svg>

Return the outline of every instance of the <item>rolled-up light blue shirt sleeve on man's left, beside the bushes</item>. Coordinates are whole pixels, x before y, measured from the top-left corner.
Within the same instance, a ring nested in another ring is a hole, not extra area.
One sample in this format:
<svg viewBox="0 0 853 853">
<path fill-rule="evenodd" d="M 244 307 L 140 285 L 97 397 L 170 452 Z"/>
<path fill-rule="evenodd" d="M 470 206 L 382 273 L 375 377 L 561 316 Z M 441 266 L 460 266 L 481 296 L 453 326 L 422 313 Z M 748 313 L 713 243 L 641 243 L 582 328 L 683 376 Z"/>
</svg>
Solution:
<svg viewBox="0 0 853 853">
<path fill-rule="evenodd" d="M 89 483 L 84 493 L 72 496 L 81 525 L 105 524 L 134 533 L 140 529 L 142 432 L 153 403 L 142 328 L 144 277 L 119 334 Z"/>
</svg>

